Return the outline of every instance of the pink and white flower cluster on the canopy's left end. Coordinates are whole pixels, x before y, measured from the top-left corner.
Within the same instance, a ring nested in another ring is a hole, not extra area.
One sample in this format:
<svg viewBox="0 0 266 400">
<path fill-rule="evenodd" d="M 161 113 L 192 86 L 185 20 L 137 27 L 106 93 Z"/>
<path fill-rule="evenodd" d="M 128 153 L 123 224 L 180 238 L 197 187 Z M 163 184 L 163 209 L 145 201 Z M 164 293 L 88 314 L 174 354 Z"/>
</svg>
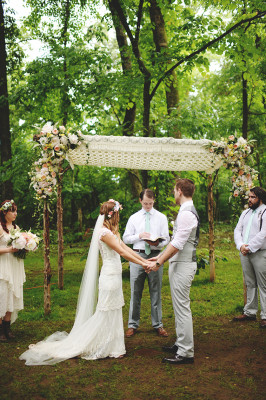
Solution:
<svg viewBox="0 0 266 400">
<path fill-rule="evenodd" d="M 68 150 L 77 148 L 84 138 L 80 130 L 46 124 L 33 139 L 41 147 L 41 157 L 29 173 L 31 185 L 37 200 L 49 199 L 56 193 L 59 165 L 69 161 Z"/>
</svg>

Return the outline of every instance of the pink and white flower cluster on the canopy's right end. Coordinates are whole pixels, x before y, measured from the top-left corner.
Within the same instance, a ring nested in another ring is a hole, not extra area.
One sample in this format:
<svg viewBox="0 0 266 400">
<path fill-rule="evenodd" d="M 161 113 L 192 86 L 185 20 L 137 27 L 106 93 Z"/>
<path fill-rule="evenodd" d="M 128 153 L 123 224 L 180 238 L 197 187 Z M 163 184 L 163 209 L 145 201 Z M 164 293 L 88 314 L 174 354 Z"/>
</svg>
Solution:
<svg viewBox="0 0 266 400">
<path fill-rule="evenodd" d="M 230 135 L 220 142 L 213 141 L 209 148 L 210 152 L 221 154 L 224 157 L 223 165 L 233 172 L 231 180 L 234 197 L 248 198 L 253 181 L 257 179 L 257 171 L 246 164 L 247 157 L 252 153 L 252 142 Z"/>
</svg>

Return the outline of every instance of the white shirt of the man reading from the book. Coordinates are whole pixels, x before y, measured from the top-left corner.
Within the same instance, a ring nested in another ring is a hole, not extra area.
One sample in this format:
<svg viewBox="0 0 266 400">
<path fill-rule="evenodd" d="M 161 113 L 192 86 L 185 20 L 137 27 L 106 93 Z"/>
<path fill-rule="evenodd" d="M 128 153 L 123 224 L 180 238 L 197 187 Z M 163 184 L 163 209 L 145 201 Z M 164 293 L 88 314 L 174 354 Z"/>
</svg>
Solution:
<svg viewBox="0 0 266 400">
<path fill-rule="evenodd" d="M 133 249 L 145 250 L 146 242 L 139 237 L 140 233 L 146 232 L 145 219 L 146 211 L 142 208 L 131 215 L 127 222 L 123 241 L 126 244 L 133 244 Z M 150 234 L 152 237 L 162 236 L 165 238 L 158 246 L 151 246 L 151 250 L 162 249 L 170 241 L 167 218 L 164 214 L 155 210 L 155 208 L 150 210 Z"/>
</svg>

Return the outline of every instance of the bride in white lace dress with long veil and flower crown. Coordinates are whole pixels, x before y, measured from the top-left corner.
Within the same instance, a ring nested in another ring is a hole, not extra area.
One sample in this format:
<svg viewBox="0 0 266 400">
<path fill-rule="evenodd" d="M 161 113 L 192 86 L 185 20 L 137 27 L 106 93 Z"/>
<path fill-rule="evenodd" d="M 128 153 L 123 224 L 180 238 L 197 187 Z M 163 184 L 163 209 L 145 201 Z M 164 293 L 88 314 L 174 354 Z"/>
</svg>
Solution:
<svg viewBox="0 0 266 400">
<path fill-rule="evenodd" d="M 120 240 L 120 209 L 121 205 L 115 200 L 103 203 L 100 208 L 72 330 L 69 334 L 55 332 L 45 340 L 30 345 L 20 356 L 20 360 L 25 360 L 26 365 L 51 365 L 76 356 L 86 360 L 120 358 L 126 353 L 120 256 L 142 265 L 143 268 L 146 268 L 148 263 Z M 103 265 L 98 292 L 99 250 Z"/>
</svg>

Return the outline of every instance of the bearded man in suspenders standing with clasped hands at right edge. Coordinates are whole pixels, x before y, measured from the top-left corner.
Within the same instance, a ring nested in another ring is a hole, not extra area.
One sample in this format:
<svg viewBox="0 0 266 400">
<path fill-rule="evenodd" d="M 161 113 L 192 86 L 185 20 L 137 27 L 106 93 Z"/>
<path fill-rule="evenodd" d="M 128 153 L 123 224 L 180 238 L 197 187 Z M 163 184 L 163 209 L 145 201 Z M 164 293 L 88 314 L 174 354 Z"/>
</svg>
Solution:
<svg viewBox="0 0 266 400">
<path fill-rule="evenodd" d="M 266 328 L 266 191 L 250 189 L 248 210 L 242 212 L 234 230 L 236 248 L 247 287 L 247 303 L 243 314 L 233 321 L 255 321 L 260 294 L 260 327 Z"/>
</svg>

